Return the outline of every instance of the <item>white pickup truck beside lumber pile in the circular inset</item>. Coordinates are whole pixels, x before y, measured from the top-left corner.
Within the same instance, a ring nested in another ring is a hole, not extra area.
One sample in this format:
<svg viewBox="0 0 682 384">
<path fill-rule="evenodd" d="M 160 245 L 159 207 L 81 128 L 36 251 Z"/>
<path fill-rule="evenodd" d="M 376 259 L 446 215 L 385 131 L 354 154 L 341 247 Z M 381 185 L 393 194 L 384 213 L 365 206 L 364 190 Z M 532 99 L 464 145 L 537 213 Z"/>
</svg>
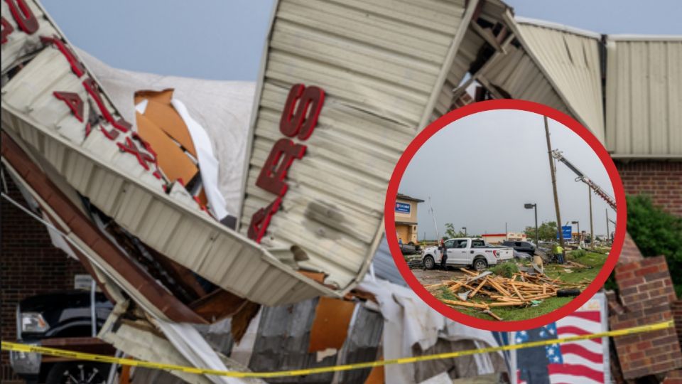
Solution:
<svg viewBox="0 0 682 384">
<path fill-rule="evenodd" d="M 445 261 L 447 265 L 469 265 L 477 271 L 514 258 L 513 248 L 494 247 L 476 238 L 445 240 L 445 248 L 448 250 L 448 260 Z M 435 265 L 440 264 L 440 253 L 438 247 L 427 247 L 421 255 L 424 267 L 433 270 Z"/>
</svg>

